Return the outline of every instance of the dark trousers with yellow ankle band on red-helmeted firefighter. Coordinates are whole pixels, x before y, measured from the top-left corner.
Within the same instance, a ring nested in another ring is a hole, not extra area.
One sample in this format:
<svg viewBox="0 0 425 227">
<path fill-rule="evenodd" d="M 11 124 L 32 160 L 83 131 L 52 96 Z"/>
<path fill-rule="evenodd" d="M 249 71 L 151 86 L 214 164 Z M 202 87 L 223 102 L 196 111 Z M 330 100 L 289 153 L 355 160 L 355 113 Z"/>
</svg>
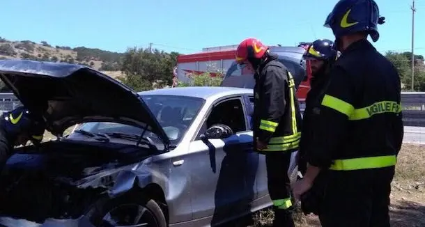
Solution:
<svg viewBox="0 0 425 227">
<path fill-rule="evenodd" d="M 273 201 L 275 220 L 273 226 L 293 227 L 291 182 L 288 168 L 291 163 L 291 152 L 274 152 L 265 155 L 267 166 L 268 191 Z"/>
</svg>

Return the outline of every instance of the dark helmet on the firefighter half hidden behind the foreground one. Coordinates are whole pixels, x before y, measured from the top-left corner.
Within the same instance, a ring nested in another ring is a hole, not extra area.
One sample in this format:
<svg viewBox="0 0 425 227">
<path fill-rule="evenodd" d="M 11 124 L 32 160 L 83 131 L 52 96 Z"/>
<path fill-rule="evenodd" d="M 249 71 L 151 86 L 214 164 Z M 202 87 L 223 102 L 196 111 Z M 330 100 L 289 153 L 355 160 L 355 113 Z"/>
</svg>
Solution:
<svg viewBox="0 0 425 227">
<path fill-rule="evenodd" d="M 311 43 L 302 57 L 306 60 L 311 58 L 323 61 L 335 60 L 337 58 L 337 50 L 331 40 L 319 39 Z"/>
</svg>

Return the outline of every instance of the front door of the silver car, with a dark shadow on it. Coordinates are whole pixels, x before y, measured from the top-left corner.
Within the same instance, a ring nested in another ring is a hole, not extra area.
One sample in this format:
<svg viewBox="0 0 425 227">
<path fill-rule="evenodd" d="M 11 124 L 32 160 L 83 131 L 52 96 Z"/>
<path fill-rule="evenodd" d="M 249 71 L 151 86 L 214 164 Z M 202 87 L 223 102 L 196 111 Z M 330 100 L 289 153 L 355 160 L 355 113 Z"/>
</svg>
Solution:
<svg viewBox="0 0 425 227">
<path fill-rule="evenodd" d="M 249 152 L 252 134 L 246 113 L 241 96 L 217 100 L 190 144 L 194 219 L 212 216 L 211 224 L 217 224 L 249 212 L 249 203 L 256 198 L 258 155 Z M 233 135 L 226 139 L 200 138 L 217 123 L 231 127 Z"/>
</svg>

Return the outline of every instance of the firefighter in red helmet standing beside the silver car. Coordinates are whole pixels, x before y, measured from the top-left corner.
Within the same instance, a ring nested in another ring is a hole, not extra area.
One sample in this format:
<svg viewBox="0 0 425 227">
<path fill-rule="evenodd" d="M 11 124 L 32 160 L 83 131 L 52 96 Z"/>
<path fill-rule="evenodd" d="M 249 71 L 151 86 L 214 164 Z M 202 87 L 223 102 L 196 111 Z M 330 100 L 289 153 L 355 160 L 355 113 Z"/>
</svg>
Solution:
<svg viewBox="0 0 425 227">
<path fill-rule="evenodd" d="M 288 168 L 300 144 L 301 114 L 291 73 L 255 38 L 243 40 L 236 61 L 254 72 L 254 148 L 265 154 L 274 226 L 294 226 Z"/>
</svg>

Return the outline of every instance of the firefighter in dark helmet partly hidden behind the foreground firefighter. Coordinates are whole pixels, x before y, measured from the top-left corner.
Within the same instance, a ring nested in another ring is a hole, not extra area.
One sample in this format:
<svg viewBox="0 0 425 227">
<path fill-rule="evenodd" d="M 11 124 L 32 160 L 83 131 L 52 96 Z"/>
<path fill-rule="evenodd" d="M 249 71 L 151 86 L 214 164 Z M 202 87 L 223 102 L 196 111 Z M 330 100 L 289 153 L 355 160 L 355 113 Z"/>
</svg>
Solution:
<svg viewBox="0 0 425 227">
<path fill-rule="evenodd" d="M 329 70 L 337 59 L 338 52 L 334 48 L 334 42 L 327 39 L 319 39 L 309 45 L 303 58 L 309 61 L 311 68 L 310 91 L 305 100 L 305 109 L 302 119 L 302 136 L 300 141 L 300 152 L 298 152 L 298 171 L 304 175 L 307 169 L 305 162 L 306 150 L 311 148 L 309 141 L 313 135 L 314 116 L 317 108 L 320 107 L 320 97 L 323 97 L 323 90 L 329 82 Z"/>
</svg>

